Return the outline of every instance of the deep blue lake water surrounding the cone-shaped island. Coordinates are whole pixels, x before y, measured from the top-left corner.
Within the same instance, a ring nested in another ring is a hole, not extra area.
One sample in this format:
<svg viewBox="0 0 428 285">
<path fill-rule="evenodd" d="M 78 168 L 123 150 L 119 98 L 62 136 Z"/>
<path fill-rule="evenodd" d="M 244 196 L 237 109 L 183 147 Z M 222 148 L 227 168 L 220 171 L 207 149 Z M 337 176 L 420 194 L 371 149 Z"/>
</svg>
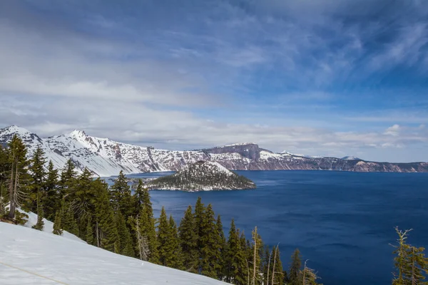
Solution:
<svg viewBox="0 0 428 285">
<path fill-rule="evenodd" d="M 257 190 L 151 191 L 158 216 L 179 220 L 198 196 L 213 204 L 228 234 L 230 219 L 250 237 L 280 243 L 283 266 L 297 247 L 325 285 L 391 284 L 394 227 L 413 229 L 409 243 L 428 247 L 428 173 L 240 171 Z M 169 173 L 168 173 L 169 174 Z M 131 175 L 151 177 L 151 173 Z"/>
</svg>

